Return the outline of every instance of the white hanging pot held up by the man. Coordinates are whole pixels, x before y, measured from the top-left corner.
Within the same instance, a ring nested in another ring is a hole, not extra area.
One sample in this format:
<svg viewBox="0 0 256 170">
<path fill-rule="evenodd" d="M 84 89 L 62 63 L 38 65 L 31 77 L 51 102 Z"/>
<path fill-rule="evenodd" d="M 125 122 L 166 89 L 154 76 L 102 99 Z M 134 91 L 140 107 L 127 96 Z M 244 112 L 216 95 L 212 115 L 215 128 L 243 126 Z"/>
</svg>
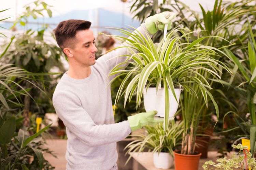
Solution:
<svg viewBox="0 0 256 170">
<path fill-rule="evenodd" d="M 174 89 L 176 98 L 179 102 L 181 89 Z M 158 89 L 156 94 L 156 87 L 149 87 L 143 90 L 144 106 L 146 111 L 157 111 L 159 117 L 165 117 L 165 90 L 163 88 Z M 171 89 L 169 89 L 169 99 L 170 99 L 170 113 L 169 120 L 174 119 L 174 114 L 176 113 L 179 103 L 175 100 Z"/>
</svg>

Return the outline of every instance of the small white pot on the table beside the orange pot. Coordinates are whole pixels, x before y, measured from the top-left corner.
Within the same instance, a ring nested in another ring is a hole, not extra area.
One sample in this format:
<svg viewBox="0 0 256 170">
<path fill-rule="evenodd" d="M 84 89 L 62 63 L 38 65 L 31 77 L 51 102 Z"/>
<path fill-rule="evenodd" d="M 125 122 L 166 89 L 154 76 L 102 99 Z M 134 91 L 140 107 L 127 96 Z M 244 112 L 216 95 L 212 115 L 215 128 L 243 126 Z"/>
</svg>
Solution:
<svg viewBox="0 0 256 170">
<path fill-rule="evenodd" d="M 153 163 L 156 168 L 169 169 L 173 165 L 173 157 L 171 154 L 166 152 L 160 152 L 153 154 Z"/>
</svg>

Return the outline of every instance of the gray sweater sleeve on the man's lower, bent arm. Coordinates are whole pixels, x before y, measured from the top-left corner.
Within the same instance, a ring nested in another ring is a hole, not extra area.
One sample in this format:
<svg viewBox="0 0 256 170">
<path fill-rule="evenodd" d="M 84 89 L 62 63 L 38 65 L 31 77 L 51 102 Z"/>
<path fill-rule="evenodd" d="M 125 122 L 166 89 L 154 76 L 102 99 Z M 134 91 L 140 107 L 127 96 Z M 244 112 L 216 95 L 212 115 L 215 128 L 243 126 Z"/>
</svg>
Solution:
<svg viewBox="0 0 256 170">
<path fill-rule="evenodd" d="M 58 117 L 70 133 L 90 147 L 117 142 L 130 133 L 128 121 L 114 124 L 95 124 L 82 107 L 79 98 L 67 92 L 54 94 L 53 105 Z"/>
</svg>

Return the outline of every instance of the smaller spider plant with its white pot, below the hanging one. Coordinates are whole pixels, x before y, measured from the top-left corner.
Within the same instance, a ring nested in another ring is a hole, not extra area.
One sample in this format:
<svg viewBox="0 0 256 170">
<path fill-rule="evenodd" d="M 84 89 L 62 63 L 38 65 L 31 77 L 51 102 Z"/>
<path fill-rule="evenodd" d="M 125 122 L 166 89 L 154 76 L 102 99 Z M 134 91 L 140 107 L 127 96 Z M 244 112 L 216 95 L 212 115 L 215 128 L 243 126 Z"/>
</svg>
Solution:
<svg viewBox="0 0 256 170">
<path fill-rule="evenodd" d="M 134 152 L 153 153 L 153 163 L 156 168 L 169 169 L 173 165 L 173 149 L 180 144 L 182 137 L 183 121 L 171 121 L 166 131 L 162 123 L 155 126 L 145 126 L 143 133 L 133 133 L 130 136 L 134 141 L 130 142 L 125 149 L 130 154 L 127 162 Z M 126 162 L 126 163 L 127 163 Z"/>
</svg>

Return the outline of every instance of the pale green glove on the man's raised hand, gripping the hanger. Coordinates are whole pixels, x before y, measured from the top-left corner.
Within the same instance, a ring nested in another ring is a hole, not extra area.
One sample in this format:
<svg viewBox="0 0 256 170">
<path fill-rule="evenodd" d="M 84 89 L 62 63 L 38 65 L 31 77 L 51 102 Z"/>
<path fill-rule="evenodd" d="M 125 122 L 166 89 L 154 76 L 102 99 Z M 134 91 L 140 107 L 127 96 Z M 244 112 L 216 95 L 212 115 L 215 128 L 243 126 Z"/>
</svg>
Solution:
<svg viewBox="0 0 256 170">
<path fill-rule="evenodd" d="M 155 34 L 157 30 L 163 30 L 165 28 L 165 24 L 168 24 L 167 30 L 172 28 L 172 19 L 176 17 L 176 14 L 173 12 L 162 12 L 160 14 L 155 14 L 151 17 L 146 18 L 145 27 L 148 32 L 151 34 Z"/>
</svg>

